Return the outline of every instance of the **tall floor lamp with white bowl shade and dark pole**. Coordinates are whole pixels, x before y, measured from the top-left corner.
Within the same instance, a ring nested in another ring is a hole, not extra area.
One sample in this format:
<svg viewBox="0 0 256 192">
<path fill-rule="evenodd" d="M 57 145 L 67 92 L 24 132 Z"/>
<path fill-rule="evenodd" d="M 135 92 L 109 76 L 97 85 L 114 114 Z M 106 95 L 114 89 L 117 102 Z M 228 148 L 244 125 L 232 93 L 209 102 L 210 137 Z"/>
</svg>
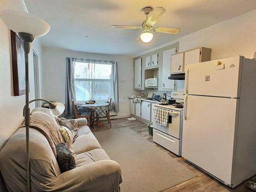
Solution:
<svg viewBox="0 0 256 192">
<path fill-rule="evenodd" d="M 46 35 L 50 30 L 50 25 L 44 20 L 28 13 L 3 10 L 0 11 L 0 17 L 3 22 L 12 31 L 16 32 L 23 41 L 25 52 L 25 74 L 26 74 L 26 105 L 24 109 L 25 125 L 26 125 L 26 153 L 27 153 L 27 191 L 30 191 L 30 152 L 29 152 L 29 123 L 30 123 L 30 108 L 29 108 L 29 52 L 31 43 L 35 37 Z M 49 101 L 48 101 L 49 102 Z M 57 106 L 57 105 L 56 105 Z M 55 106 L 55 107 L 56 107 Z M 63 108 L 63 106 L 62 106 Z"/>
</svg>

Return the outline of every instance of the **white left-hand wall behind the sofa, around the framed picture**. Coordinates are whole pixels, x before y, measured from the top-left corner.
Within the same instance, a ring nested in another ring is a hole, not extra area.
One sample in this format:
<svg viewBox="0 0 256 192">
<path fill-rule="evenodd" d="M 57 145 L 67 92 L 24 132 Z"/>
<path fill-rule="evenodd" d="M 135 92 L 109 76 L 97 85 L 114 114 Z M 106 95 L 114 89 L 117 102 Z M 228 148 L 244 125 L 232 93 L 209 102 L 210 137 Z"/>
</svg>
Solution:
<svg viewBox="0 0 256 192">
<path fill-rule="evenodd" d="M 25 95 L 13 96 L 10 30 L 0 19 L 0 148 L 23 122 Z M 32 49 L 40 57 L 40 45 L 33 42 Z M 29 56 L 30 100 L 34 98 L 34 68 L 32 50 Z M 40 62 L 40 59 L 39 59 Z M 35 104 L 30 105 L 33 109 Z"/>
</svg>

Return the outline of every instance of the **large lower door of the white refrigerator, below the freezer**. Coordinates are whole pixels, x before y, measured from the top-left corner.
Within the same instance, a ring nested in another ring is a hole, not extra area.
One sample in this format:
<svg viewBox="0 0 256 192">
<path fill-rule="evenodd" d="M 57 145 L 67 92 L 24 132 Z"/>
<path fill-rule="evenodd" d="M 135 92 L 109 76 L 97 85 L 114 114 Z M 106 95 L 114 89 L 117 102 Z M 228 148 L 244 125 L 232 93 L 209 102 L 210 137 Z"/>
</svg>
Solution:
<svg viewBox="0 0 256 192">
<path fill-rule="evenodd" d="M 231 184 L 238 99 L 191 96 L 185 100 L 182 157 Z"/>
</svg>

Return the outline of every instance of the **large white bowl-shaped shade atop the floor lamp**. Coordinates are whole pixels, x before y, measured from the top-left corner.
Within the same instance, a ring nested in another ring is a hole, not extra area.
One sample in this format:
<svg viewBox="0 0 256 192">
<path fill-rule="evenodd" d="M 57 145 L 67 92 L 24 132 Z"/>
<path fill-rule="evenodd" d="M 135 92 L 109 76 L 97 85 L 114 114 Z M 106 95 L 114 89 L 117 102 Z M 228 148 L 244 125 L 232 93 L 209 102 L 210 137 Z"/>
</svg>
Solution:
<svg viewBox="0 0 256 192">
<path fill-rule="evenodd" d="M 46 35 L 50 31 L 50 25 L 35 15 L 14 10 L 0 11 L 3 22 L 12 31 L 29 33 L 35 37 Z"/>
</svg>

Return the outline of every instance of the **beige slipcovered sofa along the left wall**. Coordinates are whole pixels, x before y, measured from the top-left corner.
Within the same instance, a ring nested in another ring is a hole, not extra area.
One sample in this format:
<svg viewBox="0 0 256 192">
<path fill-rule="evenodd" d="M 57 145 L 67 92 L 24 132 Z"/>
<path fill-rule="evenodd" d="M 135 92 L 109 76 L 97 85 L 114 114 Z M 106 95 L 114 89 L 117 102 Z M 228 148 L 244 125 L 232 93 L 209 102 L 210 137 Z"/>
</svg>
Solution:
<svg viewBox="0 0 256 192">
<path fill-rule="evenodd" d="M 60 172 L 48 140 L 30 128 L 31 191 L 120 191 L 120 165 L 110 160 L 87 126 L 78 119 L 80 129 L 74 142 L 77 168 Z M 0 152 L 0 170 L 9 191 L 26 190 L 25 128 L 18 129 Z"/>
</svg>

